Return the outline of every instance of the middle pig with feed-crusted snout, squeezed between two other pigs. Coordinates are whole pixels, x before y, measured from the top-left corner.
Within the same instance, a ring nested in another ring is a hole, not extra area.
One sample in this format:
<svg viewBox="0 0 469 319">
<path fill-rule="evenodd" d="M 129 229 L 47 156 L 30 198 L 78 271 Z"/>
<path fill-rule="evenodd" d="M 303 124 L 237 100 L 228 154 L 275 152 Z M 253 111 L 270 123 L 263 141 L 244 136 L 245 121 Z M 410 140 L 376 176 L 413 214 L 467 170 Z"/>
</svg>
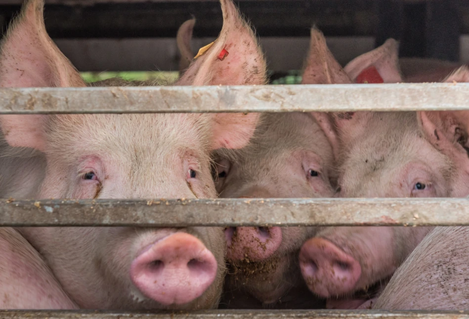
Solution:
<svg viewBox="0 0 469 319">
<path fill-rule="evenodd" d="M 191 21 L 186 21 L 180 30 L 184 26 L 192 28 Z M 180 47 L 190 47 L 190 37 L 179 40 Z M 316 46 L 313 37 L 308 57 L 311 62 L 307 68 L 311 68 L 319 56 Z M 181 55 L 184 55 L 182 50 Z M 315 71 L 318 74 L 325 72 Z M 310 114 L 263 114 L 259 122 L 246 147 L 215 151 L 214 180 L 220 197 L 334 195 L 330 180 L 332 148 Z M 220 307 L 291 309 L 322 306 L 323 302 L 319 300 L 315 305 L 311 302 L 315 297 L 301 279 L 298 267 L 299 247 L 313 234 L 312 227 L 227 228 L 229 269 Z"/>
</svg>

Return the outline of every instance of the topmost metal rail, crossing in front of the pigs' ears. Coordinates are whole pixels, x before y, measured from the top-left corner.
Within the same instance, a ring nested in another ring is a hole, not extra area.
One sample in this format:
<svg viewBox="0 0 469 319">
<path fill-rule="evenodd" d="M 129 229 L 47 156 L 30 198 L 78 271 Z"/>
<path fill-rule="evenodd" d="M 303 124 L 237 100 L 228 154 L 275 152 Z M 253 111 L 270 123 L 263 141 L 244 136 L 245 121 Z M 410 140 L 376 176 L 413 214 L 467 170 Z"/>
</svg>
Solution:
<svg viewBox="0 0 469 319">
<path fill-rule="evenodd" d="M 0 114 L 468 109 L 469 83 L 0 89 Z"/>
</svg>

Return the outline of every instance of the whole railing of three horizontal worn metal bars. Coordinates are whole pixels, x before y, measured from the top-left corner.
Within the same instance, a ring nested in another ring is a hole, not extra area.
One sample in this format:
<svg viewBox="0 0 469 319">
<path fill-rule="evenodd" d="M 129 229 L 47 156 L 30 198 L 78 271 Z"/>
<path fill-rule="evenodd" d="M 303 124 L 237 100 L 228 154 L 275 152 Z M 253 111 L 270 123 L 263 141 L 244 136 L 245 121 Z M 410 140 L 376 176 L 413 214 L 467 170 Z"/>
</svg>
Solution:
<svg viewBox="0 0 469 319">
<path fill-rule="evenodd" d="M 469 84 L 1 88 L 0 114 L 469 110 Z M 469 226 L 469 199 L 0 199 L 0 226 Z M 463 311 L 0 311 L 30 319 L 469 319 Z"/>
</svg>

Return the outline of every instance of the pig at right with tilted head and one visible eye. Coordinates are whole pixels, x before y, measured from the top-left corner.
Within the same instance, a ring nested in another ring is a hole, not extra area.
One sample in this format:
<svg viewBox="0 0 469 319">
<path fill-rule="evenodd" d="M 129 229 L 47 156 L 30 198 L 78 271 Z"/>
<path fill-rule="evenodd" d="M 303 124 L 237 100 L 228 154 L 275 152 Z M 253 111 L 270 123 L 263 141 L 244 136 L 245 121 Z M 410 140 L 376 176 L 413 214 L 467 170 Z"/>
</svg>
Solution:
<svg viewBox="0 0 469 319">
<path fill-rule="evenodd" d="M 380 59 L 380 55 L 369 57 Z M 393 61 L 395 75 L 398 60 Z M 386 69 L 393 64 L 372 64 L 385 82 L 390 74 Z M 461 78 L 457 72 L 445 81 Z M 316 113 L 315 117 L 334 150 L 341 197 L 469 194 L 467 112 Z M 300 250 L 303 278 L 311 291 L 328 298 L 328 308 L 363 306 L 374 297 L 374 291 L 367 289 L 380 288 L 430 229 L 319 229 Z M 357 296 L 363 290 L 365 296 Z"/>
</svg>

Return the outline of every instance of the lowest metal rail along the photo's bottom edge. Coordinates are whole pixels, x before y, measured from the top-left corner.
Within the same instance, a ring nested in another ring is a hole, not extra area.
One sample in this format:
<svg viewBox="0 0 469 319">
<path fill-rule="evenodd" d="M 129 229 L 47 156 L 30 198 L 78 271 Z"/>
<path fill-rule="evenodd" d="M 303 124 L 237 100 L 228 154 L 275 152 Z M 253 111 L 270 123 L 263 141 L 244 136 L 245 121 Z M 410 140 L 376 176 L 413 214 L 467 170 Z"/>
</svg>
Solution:
<svg viewBox="0 0 469 319">
<path fill-rule="evenodd" d="M 198 312 L 0 311 L 11 319 L 468 319 L 465 311 L 210 310 Z"/>
</svg>

